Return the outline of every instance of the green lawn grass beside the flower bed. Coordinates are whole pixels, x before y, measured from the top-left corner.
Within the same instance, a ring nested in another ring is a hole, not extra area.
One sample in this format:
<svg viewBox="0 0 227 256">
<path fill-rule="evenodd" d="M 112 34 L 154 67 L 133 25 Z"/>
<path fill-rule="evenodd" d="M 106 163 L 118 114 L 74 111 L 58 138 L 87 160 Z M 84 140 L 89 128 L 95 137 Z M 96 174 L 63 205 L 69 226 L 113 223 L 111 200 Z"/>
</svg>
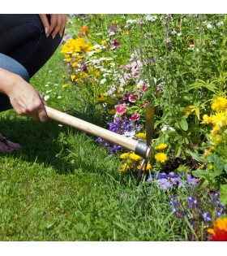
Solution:
<svg viewBox="0 0 227 256">
<path fill-rule="evenodd" d="M 62 89 L 59 50 L 32 79 L 49 106 L 100 124 L 73 85 Z M 52 71 L 52 72 L 49 72 Z M 49 83 L 48 88 L 45 85 Z M 58 99 L 61 95 L 62 98 Z M 161 189 L 122 176 L 116 156 L 94 137 L 53 120 L 41 124 L 6 111 L 1 132 L 22 145 L 0 155 L 1 241 L 186 241 Z"/>
</svg>

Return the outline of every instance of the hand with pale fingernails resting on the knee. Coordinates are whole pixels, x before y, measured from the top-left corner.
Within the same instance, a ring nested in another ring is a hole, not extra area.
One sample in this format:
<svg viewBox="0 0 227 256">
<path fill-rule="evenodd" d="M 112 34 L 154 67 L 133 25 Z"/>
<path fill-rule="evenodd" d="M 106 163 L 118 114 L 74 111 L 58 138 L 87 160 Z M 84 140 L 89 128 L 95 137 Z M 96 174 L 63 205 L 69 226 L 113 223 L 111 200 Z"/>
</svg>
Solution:
<svg viewBox="0 0 227 256">
<path fill-rule="evenodd" d="M 64 14 L 52 14 L 50 15 L 50 24 L 46 14 L 40 14 L 41 22 L 45 28 L 46 37 L 54 37 L 59 34 L 62 37 L 64 28 L 66 28 L 67 15 Z"/>
</svg>

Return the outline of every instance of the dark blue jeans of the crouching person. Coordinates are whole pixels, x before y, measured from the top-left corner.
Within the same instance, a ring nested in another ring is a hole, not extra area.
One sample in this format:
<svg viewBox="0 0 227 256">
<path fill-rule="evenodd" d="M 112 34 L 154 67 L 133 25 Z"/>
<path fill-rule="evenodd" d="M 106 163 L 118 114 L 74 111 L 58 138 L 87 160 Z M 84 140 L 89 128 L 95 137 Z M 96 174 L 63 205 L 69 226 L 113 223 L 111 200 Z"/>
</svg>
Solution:
<svg viewBox="0 0 227 256">
<path fill-rule="evenodd" d="M 45 36 L 39 15 L 0 14 L 0 67 L 29 81 L 57 50 L 62 37 Z M 24 69 L 25 68 L 25 69 Z M 0 93 L 0 111 L 11 109 L 9 98 Z"/>
</svg>

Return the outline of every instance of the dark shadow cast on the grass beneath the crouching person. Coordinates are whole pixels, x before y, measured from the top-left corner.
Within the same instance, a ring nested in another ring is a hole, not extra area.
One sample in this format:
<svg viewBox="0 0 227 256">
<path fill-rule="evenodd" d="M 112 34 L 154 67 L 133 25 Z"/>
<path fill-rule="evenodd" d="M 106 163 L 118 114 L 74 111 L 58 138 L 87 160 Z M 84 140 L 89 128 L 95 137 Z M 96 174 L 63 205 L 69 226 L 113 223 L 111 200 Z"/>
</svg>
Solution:
<svg viewBox="0 0 227 256">
<path fill-rule="evenodd" d="M 51 119 L 37 122 L 11 111 L 1 116 L 0 127 L 4 136 L 22 145 L 10 154 L 12 158 L 54 167 L 59 174 L 83 171 L 102 175 L 109 171 L 114 178 L 118 176 L 118 160 L 110 157 L 107 150 L 96 144 L 95 137 L 85 132 L 58 126 L 58 122 Z"/>
</svg>

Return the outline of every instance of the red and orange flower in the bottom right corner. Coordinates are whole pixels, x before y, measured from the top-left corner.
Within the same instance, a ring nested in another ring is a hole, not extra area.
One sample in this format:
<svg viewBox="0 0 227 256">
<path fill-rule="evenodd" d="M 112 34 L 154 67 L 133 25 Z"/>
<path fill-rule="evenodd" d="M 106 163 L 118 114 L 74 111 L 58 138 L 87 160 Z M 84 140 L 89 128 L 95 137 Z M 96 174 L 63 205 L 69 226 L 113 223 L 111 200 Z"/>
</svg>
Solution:
<svg viewBox="0 0 227 256">
<path fill-rule="evenodd" d="M 227 218 L 213 221 L 213 228 L 209 228 L 208 232 L 212 235 L 211 241 L 227 241 Z"/>
</svg>

